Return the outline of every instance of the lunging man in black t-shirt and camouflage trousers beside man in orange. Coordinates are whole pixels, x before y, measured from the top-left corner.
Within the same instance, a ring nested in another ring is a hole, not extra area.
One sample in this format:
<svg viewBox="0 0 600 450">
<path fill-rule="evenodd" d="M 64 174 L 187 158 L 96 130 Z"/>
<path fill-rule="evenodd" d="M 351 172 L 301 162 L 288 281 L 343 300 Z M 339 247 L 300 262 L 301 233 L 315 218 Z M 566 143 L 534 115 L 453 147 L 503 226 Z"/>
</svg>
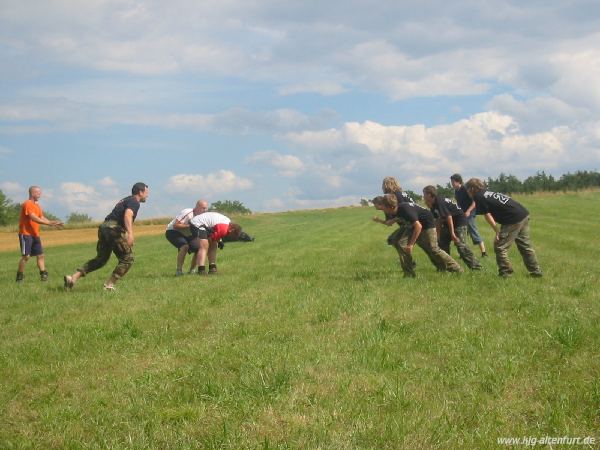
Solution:
<svg viewBox="0 0 600 450">
<path fill-rule="evenodd" d="M 150 188 L 145 183 L 136 183 L 131 189 L 131 195 L 120 200 L 104 222 L 98 228 L 97 255 L 90 259 L 73 275 L 65 275 L 66 289 L 71 289 L 79 278 L 103 267 L 114 253 L 119 263 L 110 278 L 104 283 L 104 289 L 115 290 L 115 283 L 125 276 L 133 264 L 133 222 L 140 209 L 140 203 L 148 198 Z"/>
</svg>

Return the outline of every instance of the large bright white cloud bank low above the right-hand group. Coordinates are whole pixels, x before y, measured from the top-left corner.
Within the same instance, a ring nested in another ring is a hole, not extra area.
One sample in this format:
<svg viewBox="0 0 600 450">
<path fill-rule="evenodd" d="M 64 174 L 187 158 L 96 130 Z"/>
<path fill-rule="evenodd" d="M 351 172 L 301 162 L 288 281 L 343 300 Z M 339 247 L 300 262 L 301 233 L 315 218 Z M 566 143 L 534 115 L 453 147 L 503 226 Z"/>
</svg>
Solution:
<svg viewBox="0 0 600 450">
<path fill-rule="evenodd" d="M 588 138 L 583 140 L 582 134 Z M 335 136 L 335 140 L 330 136 Z M 597 161 L 598 136 L 597 127 L 583 130 L 557 126 L 524 133 L 513 117 L 486 112 L 432 127 L 350 122 L 336 130 L 290 134 L 286 138 L 293 145 L 320 155 L 321 163 L 327 161 L 327 153 L 318 153 L 315 149 L 323 142 L 339 148 L 359 145 L 362 155 L 353 161 L 352 170 L 379 165 L 380 171 L 393 168 L 405 180 L 434 183 L 435 180 L 445 182 L 453 171 L 483 171 L 492 176 L 503 171 L 525 176 L 538 170 L 557 169 L 566 160 Z M 582 144 L 583 141 L 586 143 Z M 334 171 L 332 175 L 327 178 L 332 188 L 344 185 L 342 172 Z"/>
</svg>

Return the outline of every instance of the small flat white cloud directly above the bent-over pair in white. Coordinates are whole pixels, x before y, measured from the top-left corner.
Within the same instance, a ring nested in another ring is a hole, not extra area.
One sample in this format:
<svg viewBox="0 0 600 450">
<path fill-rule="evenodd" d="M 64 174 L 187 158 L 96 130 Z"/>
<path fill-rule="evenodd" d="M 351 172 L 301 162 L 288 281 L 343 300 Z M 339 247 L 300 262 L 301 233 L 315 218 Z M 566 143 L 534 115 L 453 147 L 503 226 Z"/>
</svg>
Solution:
<svg viewBox="0 0 600 450">
<path fill-rule="evenodd" d="M 207 175 L 178 174 L 169 178 L 168 192 L 196 192 L 200 196 L 210 196 L 233 191 L 245 191 L 252 188 L 252 180 L 238 177 L 229 170 L 219 170 Z"/>
</svg>

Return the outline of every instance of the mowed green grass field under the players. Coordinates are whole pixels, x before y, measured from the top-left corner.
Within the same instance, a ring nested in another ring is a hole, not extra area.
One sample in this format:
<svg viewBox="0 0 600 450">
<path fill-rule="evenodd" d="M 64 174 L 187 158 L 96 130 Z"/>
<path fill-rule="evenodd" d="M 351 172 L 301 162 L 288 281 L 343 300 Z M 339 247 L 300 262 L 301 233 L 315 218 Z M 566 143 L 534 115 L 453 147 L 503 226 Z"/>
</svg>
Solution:
<svg viewBox="0 0 600 450">
<path fill-rule="evenodd" d="M 175 278 L 163 236 L 64 292 L 0 254 L 0 448 L 497 448 L 600 439 L 600 192 L 519 197 L 545 272 L 403 279 L 372 208 L 240 218 L 219 275 Z M 15 239 L 16 243 L 16 239 Z M 453 251 L 453 255 L 456 252 Z M 187 265 L 187 261 L 186 261 Z"/>
</svg>

